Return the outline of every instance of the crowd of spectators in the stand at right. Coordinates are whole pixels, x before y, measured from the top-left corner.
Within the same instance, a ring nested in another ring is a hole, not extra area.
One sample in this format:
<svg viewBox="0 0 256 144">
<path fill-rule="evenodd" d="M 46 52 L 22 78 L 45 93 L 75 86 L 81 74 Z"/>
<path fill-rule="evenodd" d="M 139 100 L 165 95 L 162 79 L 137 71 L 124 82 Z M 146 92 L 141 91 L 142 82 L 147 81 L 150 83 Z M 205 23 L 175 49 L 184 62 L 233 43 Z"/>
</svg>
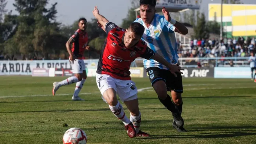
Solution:
<svg viewBox="0 0 256 144">
<path fill-rule="evenodd" d="M 179 57 L 249 57 L 250 51 L 255 52 L 255 43 L 255 37 L 193 39 L 190 46 L 184 46 L 177 41 Z"/>
</svg>

